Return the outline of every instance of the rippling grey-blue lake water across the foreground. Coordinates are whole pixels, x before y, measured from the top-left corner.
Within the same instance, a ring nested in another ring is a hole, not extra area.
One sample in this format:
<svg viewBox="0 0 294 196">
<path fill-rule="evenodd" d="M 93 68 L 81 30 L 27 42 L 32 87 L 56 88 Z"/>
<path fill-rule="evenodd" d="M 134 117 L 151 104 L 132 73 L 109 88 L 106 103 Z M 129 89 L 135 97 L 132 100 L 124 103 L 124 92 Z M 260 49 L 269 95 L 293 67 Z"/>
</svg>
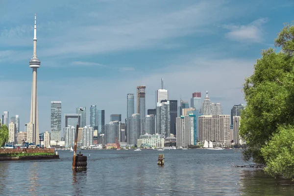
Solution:
<svg viewBox="0 0 294 196">
<path fill-rule="evenodd" d="M 246 165 L 241 150 L 82 150 L 87 171 L 59 160 L 0 162 L 3 196 L 292 196 L 294 183 Z M 158 166 L 158 154 L 165 165 Z"/>
</svg>

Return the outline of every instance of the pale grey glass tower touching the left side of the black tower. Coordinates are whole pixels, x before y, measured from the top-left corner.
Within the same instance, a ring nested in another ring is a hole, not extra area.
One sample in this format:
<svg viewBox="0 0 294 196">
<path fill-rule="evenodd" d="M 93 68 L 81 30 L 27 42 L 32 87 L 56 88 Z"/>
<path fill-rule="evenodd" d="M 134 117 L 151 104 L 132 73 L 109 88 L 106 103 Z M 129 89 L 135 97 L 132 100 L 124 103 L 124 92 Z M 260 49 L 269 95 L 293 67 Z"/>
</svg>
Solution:
<svg viewBox="0 0 294 196">
<path fill-rule="evenodd" d="M 157 103 L 156 106 L 156 133 L 169 137 L 170 129 L 170 101 Z"/>
</svg>

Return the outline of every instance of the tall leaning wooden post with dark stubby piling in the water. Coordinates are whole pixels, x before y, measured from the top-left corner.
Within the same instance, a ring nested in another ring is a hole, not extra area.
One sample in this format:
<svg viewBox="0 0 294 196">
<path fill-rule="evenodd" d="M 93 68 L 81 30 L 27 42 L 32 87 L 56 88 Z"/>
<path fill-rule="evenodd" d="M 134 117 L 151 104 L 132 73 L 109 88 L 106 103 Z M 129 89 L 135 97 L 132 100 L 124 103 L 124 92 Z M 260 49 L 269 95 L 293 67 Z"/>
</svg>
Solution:
<svg viewBox="0 0 294 196">
<path fill-rule="evenodd" d="M 83 111 L 83 109 L 79 109 L 79 111 Z M 81 152 L 76 155 L 76 147 L 77 147 L 77 134 L 78 134 L 78 117 L 79 111 L 77 113 L 77 124 L 75 129 L 75 139 L 74 139 L 74 150 L 73 150 L 73 170 L 76 171 L 77 169 L 87 169 L 87 157 L 83 156 Z"/>
</svg>

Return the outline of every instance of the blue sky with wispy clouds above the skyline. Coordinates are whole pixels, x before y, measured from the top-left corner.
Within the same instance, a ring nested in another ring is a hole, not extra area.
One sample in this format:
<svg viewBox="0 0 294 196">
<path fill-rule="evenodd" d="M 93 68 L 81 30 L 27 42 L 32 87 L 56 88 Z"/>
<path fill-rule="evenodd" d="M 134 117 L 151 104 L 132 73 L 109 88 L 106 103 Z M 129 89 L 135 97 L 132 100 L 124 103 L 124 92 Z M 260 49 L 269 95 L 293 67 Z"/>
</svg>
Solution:
<svg viewBox="0 0 294 196">
<path fill-rule="evenodd" d="M 262 49 L 293 20 L 292 0 L 1 0 L 0 111 L 29 122 L 34 14 L 37 14 L 40 132 L 50 101 L 62 115 L 96 104 L 126 117 L 126 94 L 145 85 L 146 108 L 164 78 L 170 99 L 209 92 L 223 113 L 245 103 L 242 85 Z"/>
</svg>

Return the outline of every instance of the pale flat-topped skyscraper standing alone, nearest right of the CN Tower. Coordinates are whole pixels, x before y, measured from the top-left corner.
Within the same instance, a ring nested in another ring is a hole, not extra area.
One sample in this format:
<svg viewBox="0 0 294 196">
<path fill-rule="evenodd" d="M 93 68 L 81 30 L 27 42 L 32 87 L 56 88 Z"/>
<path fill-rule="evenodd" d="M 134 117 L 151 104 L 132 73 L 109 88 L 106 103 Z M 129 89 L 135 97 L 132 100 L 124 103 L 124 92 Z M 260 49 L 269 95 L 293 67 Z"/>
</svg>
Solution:
<svg viewBox="0 0 294 196">
<path fill-rule="evenodd" d="M 61 101 L 51 101 L 51 140 L 61 140 Z"/>
</svg>

